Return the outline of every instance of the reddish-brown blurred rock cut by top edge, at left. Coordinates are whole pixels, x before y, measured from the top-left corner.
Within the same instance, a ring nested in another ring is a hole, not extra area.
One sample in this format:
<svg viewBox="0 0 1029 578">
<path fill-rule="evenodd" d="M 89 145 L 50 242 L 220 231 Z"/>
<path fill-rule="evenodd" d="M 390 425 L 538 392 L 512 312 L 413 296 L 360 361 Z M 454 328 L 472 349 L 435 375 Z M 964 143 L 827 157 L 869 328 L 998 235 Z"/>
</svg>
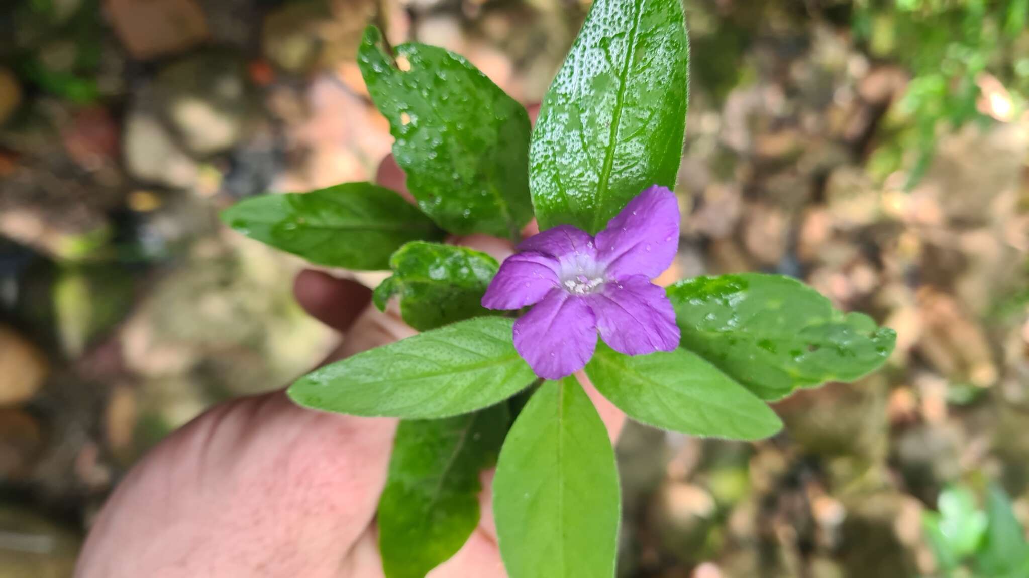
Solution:
<svg viewBox="0 0 1029 578">
<path fill-rule="evenodd" d="M 194 0 L 107 0 L 105 7 L 137 60 L 180 52 L 208 38 L 207 19 Z"/>
</svg>

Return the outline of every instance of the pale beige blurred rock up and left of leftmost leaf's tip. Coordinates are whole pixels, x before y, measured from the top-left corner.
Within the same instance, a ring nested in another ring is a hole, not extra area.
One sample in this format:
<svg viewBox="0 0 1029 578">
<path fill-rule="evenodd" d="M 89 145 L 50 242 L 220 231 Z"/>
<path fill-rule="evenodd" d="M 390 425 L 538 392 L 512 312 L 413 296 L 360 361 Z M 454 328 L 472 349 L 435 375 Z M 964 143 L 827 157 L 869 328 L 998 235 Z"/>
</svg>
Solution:
<svg viewBox="0 0 1029 578">
<path fill-rule="evenodd" d="M 142 110 L 130 112 L 123 142 L 126 169 L 133 177 L 173 188 L 188 188 L 197 182 L 197 161 L 154 115 Z"/>
</svg>

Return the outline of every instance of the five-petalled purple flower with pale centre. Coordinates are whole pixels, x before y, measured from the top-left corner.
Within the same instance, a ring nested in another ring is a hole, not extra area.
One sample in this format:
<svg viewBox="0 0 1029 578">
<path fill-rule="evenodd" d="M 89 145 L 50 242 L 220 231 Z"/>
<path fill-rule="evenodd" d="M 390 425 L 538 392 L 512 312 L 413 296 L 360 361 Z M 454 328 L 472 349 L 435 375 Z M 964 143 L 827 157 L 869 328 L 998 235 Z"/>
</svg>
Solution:
<svg viewBox="0 0 1029 578">
<path fill-rule="evenodd" d="M 483 305 L 535 303 L 514 323 L 514 349 L 547 380 L 584 367 L 597 331 L 627 355 L 672 351 L 679 345 L 675 313 L 650 280 L 672 264 L 678 242 L 675 194 L 652 186 L 596 238 L 561 225 L 526 240 L 500 266 Z"/>
</svg>

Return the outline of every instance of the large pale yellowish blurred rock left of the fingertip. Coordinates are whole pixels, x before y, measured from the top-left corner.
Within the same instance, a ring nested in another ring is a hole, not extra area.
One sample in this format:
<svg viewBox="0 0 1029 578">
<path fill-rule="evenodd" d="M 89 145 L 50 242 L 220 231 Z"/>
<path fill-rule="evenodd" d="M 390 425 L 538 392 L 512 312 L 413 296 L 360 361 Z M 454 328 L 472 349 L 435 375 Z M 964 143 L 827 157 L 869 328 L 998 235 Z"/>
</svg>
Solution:
<svg viewBox="0 0 1029 578">
<path fill-rule="evenodd" d="M 230 239 L 243 254 L 210 241 L 206 255 L 164 277 L 126 321 L 121 352 L 132 371 L 188 378 L 224 397 L 282 387 L 323 355 L 328 332 L 292 303 L 299 263 Z"/>
</svg>

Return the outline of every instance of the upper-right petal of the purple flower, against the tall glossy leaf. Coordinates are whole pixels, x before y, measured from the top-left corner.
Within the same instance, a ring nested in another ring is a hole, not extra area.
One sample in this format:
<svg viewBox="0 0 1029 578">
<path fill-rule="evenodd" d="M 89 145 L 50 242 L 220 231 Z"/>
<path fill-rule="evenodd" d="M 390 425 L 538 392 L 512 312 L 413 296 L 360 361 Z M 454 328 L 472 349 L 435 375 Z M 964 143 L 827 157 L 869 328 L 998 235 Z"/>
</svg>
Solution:
<svg viewBox="0 0 1029 578">
<path fill-rule="evenodd" d="M 644 275 L 654 279 L 679 249 L 679 205 L 675 193 L 652 186 L 639 193 L 597 233 L 600 263 L 608 279 Z"/>
</svg>

